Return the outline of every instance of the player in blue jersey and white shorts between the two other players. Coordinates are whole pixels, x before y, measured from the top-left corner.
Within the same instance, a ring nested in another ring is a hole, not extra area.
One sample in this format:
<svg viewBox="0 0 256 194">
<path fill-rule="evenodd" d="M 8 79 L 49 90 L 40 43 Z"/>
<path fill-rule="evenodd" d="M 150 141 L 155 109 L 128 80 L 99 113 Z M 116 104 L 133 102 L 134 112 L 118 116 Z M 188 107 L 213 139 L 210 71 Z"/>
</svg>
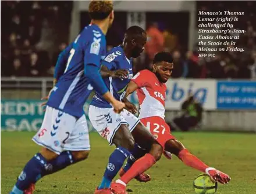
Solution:
<svg viewBox="0 0 256 194">
<path fill-rule="evenodd" d="M 129 166 L 143 156 L 155 141 L 150 131 L 131 114 L 134 105 L 123 98 L 127 84 L 133 78 L 131 58 L 140 56 L 146 41 L 146 32 L 136 25 L 131 26 L 125 32 L 122 45 L 114 47 L 102 61 L 101 74 L 106 86 L 117 100 L 125 102 L 126 107 L 120 114 L 116 114 L 112 105 L 98 92 L 95 92 L 90 104 L 88 115 L 93 127 L 109 142 L 109 145 L 116 146 L 115 151 L 109 156 L 102 182 L 96 188 L 95 194 L 112 194 L 111 182 L 126 158 L 130 156 L 127 164 Z M 150 176 L 144 173 L 135 178 L 141 182 L 150 181 Z"/>
</svg>

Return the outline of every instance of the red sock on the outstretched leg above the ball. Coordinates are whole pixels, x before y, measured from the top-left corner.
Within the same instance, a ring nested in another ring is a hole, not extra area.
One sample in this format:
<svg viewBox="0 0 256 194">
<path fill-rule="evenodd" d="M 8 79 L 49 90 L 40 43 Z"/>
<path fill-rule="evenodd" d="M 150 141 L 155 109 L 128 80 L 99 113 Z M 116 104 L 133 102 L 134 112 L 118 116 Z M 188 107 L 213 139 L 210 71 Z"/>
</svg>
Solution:
<svg viewBox="0 0 256 194">
<path fill-rule="evenodd" d="M 205 173 L 205 169 L 209 167 L 196 156 L 192 155 L 187 149 L 183 149 L 182 151 L 180 151 L 179 158 L 187 166 L 190 166 L 193 169 L 200 170 L 203 173 Z"/>
</svg>

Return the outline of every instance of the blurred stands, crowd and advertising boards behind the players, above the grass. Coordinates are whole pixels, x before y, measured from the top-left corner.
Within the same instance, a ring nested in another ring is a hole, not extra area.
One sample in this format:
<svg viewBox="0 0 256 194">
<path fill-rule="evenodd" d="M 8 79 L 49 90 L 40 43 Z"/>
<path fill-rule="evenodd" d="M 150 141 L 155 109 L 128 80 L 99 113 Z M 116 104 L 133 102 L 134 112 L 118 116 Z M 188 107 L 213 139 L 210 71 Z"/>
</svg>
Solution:
<svg viewBox="0 0 256 194">
<path fill-rule="evenodd" d="M 106 35 L 108 50 L 122 42 L 127 27 L 140 25 L 157 41 L 148 43 L 143 56 L 134 60 L 134 72 L 147 68 L 160 50 L 175 57 L 166 120 L 179 114 L 192 91 L 205 109 L 201 129 L 256 131 L 254 8 L 255 2 L 246 1 L 115 1 L 115 21 Z M 1 2 L 2 130 L 38 129 L 43 116 L 40 98 L 52 87 L 59 52 L 90 22 L 87 9 L 88 1 Z M 238 42 L 246 51 L 217 53 L 215 60 L 198 58 L 198 10 L 244 12 L 234 28 L 247 30 Z M 222 90 L 234 86 L 235 93 Z"/>
</svg>

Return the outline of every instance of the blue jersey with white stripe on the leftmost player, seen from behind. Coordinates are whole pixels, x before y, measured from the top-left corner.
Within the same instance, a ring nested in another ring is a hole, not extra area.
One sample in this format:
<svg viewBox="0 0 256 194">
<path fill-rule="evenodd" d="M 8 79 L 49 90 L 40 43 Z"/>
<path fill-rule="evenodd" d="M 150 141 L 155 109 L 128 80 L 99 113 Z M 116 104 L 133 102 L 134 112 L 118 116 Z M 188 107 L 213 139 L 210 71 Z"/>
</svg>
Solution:
<svg viewBox="0 0 256 194">
<path fill-rule="evenodd" d="M 88 25 L 71 43 L 66 69 L 54 87 L 47 105 L 72 116 L 84 114 L 86 103 L 93 87 L 86 77 L 86 65 L 99 68 L 106 56 L 106 39 L 97 25 Z"/>
</svg>

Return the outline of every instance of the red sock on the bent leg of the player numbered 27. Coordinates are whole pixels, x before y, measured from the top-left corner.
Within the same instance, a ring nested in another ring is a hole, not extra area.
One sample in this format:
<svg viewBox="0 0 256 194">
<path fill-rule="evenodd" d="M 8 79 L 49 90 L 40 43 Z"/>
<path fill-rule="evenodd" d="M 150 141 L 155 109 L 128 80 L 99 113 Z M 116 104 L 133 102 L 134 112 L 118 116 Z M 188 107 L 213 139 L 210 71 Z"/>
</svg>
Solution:
<svg viewBox="0 0 256 194">
<path fill-rule="evenodd" d="M 125 184 L 137 175 L 144 173 L 144 171 L 150 169 L 155 164 L 155 158 L 150 153 L 146 153 L 145 156 L 134 162 L 133 166 L 120 178 Z"/>
</svg>

